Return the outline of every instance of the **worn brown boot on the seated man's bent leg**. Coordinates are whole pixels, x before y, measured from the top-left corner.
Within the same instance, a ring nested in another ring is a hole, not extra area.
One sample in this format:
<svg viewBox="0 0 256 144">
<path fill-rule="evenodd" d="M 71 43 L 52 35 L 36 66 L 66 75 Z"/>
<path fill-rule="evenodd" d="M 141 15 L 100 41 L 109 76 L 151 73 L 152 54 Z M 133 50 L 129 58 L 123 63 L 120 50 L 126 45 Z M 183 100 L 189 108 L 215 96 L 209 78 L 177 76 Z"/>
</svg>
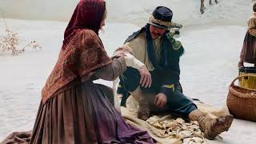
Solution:
<svg viewBox="0 0 256 144">
<path fill-rule="evenodd" d="M 138 102 L 138 118 L 146 121 L 148 118 L 150 118 L 150 106 L 145 95 L 142 94 L 141 88 L 138 86 L 138 88 L 130 94 Z"/>
</svg>

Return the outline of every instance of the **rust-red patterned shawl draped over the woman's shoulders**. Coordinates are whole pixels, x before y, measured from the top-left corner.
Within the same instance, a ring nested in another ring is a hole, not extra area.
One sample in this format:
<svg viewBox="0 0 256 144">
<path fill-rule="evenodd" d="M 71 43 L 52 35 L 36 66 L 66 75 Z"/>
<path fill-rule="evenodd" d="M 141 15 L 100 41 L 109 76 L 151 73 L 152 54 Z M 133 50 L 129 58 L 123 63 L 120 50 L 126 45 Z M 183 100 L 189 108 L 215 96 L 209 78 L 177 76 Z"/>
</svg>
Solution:
<svg viewBox="0 0 256 144">
<path fill-rule="evenodd" d="M 95 70 L 111 62 L 93 30 L 79 31 L 70 39 L 66 50 L 61 50 L 58 55 L 58 62 L 42 89 L 42 102 L 46 102 L 75 79 L 79 78 L 80 82 L 89 80 Z"/>
</svg>

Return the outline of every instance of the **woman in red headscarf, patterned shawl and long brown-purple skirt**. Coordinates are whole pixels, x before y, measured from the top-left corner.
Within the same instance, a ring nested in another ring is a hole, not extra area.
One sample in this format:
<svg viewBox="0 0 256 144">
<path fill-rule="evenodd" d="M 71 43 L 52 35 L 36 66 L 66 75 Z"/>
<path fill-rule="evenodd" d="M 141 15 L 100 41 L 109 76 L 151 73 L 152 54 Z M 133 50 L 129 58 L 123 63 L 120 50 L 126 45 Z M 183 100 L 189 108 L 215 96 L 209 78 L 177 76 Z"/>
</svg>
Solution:
<svg viewBox="0 0 256 144">
<path fill-rule="evenodd" d="M 126 124 L 111 104 L 112 89 L 93 82 L 112 81 L 129 66 L 122 55 L 107 56 L 98 37 L 105 18 L 103 0 L 78 2 L 42 89 L 30 144 L 154 143 L 146 131 Z"/>
</svg>

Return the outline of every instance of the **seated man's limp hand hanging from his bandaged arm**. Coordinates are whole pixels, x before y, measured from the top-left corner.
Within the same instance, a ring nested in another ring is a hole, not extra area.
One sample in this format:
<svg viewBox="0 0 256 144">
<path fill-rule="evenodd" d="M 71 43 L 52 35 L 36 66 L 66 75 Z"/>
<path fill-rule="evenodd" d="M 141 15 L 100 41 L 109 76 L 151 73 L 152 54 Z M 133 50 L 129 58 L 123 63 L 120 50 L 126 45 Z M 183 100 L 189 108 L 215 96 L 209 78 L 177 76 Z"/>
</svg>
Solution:
<svg viewBox="0 0 256 144">
<path fill-rule="evenodd" d="M 150 87 L 152 79 L 149 70 L 147 70 L 146 66 L 144 65 L 138 71 L 141 74 L 140 84 L 142 85 L 142 87 Z"/>
</svg>

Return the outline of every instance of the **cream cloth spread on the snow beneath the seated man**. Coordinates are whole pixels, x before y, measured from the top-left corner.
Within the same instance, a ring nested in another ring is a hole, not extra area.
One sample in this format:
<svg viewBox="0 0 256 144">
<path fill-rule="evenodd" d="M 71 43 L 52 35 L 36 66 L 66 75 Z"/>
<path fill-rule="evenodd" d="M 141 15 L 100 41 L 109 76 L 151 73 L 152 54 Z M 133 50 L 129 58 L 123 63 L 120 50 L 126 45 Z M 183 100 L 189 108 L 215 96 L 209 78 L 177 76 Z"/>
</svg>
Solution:
<svg viewBox="0 0 256 144">
<path fill-rule="evenodd" d="M 229 114 L 226 106 L 217 109 L 200 101 L 194 101 L 194 103 L 210 118 Z M 133 97 L 129 97 L 126 107 L 121 107 L 122 117 L 130 125 L 148 131 L 158 143 L 207 143 L 196 121 L 189 122 L 184 118 L 179 118 L 177 114 L 154 115 L 147 121 L 143 121 L 137 118 L 137 110 L 138 102 Z"/>
</svg>

